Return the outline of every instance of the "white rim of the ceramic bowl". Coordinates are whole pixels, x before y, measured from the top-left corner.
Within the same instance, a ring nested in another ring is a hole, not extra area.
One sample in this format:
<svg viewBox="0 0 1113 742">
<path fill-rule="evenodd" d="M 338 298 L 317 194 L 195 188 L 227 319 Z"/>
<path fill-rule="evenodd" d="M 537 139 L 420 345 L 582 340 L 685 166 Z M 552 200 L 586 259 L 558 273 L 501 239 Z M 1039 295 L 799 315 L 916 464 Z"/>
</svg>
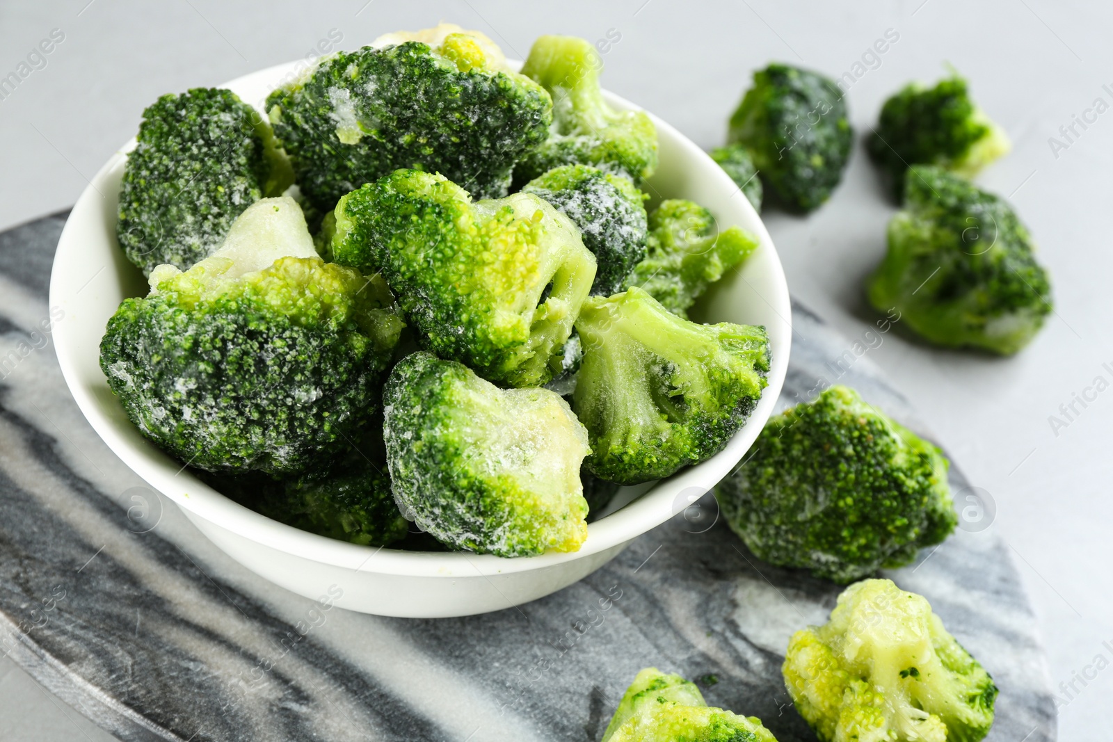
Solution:
<svg viewBox="0 0 1113 742">
<path fill-rule="evenodd" d="M 509 63 L 520 65 L 520 62 L 513 60 L 509 60 Z M 237 92 L 245 102 L 255 106 L 256 109 L 264 112 L 256 101 L 250 100 L 249 96 L 245 96 L 240 91 L 250 90 L 253 86 L 259 86 L 260 83 L 267 85 L 272 81 L 280 81 L 284 76 L 296 75 L 299 67 L 304 68 L 304 60 L 275 65 L 240 76 L 217 87 L 228 88 Z M 269 88 L 273 87 L 276 86 L 269 86 Z M 604 90 L 604 96 L 607 101 L 615 108 L 643 110 L 609 91 Z M 707 160 L 707 162 L 713 166 L 713 170 L 709 170 L 709 172 L 715 175 L 710 177 L 718 179 L 723 189 L 729 188 L 737 191 L 736 196 L 741 192 L 730 177 L 715 165 L 707 152 L 652 112 L 646 111 L 646 113 L 657 127 L 659 138 L 663 132 L 684 150 L 686 158 L 695 157 Z M 79 249 L 70 247 L 71 245 L 79 244 L 81 240 L 79 234 L 79 229 L 81 229 L 78 219 L 79 215 L 81 218 L 85 218 L 85 214 L 90 211 L 90 209 L 93 211 L 99 210 L 100 212 L 105 211 L 104 205 L 97 202 L 102 199 L 99 187 L 105 184 L 114 169 L 122 165 L 126 152 L 132 149 L 135 145 L 136 140 L 131 138 L 108 158 L 108 161 L 101 166 L 81 192 L 70 216 L 67 218 L 51 269 L 50 306 L 61 306 L 65 298 L 62 296 L 62 291 L 65 290 L 65 258 L 71 249 Z M 373 547 L 352 544 L 319 536 L 273 521 L 220 494 L 197 479 L 191 473 L 186 473 L 187 476 L 179 479 L 178 475 L 183 474 L 185 467 L 179 466 L 180 462 L 170 457 L 154 443 L 139 436 L 138 431 L 134 428 L 130 421 L 122 415 L 122 408 L 120 408 L 120 415 L 117 415 L 116 419 L 106 415 L 95 398 L 92 390 L 87 388 L 81 382 L 79 370 L 80 360 L 76 354 L 71 353 L 71 343 L 69 342 L 70 326 L 66 321 L 58 323 L 53 330 L 55 348 L 70 394 L 73 396 L 86 419 L 106 445 L 129 468 L 145 479 L 155 492 L 174 501 L 190 516 L 200 517 L 221 528 L 232 531 L 248 541 L 263 544 L 279 552 L 313 562 L 353 568 L 357 572 L 415 577 L 490 577 L 499 574 L 554 567 L 620 546 L 689 507 L 693 502 L 693 497 L 684 495 L 684 493 L 691 493 L 693 487 L 697 494 L 702 494 L 711 489 L 741 459 L 771 414 L 784 386 L 788 368 L 791 337 L 790 301 L 784 268 L 772 239 L 769 237 L 765 224 L 749 201 L 746 198 L 742 198 L 741 201 L 741 209 L 748 211 L 746 230 L 758 237 L 761 250 L 769 253 L 767 258 L 769 270 L 771 271 L 771 280 L 769 281 L 771 291 L 768 291 L 768 295 L 759 294 L 759 296 L 784 320 L 782 326 L 777 330 L 774 330 L 771 327 L 769 328 L 770 343 L 772 344 L 774 332 L 787 334 L 786 342 L 779 343 L 781 348 L 779 348 L 778 353 L 774 354 L 767 375 L 768 385 L 762 392 L 758 405 L 746 421 L 746 424 L 736 432 L 721 452 L 705 462 L 681 469 L 670 477 L 653 483 L 647 492 L 639 495 L 632 502 L 589 523 L 588 537 L 580 550 L 575 552 L 545 552 L 544 554 L 526 557 L 500 557 L 471 552 L 403 551 L 384 546 Z M 101 219 L 101 222 L 104 222 L 104 219 Z M 111 225 L 109 231 L 115 238 L 115 224 Z M 757 291 L 752 286 L 749 290 Z M 107 379 L 104 383 L 104 388 L 108 388 Z M 115 400 L 115 397 L 112 399 Z M 131 428 L 130 435 L 122 432 L 119 427 L 119 418 L 121 417 L 124 425 Z"/>
</svg>

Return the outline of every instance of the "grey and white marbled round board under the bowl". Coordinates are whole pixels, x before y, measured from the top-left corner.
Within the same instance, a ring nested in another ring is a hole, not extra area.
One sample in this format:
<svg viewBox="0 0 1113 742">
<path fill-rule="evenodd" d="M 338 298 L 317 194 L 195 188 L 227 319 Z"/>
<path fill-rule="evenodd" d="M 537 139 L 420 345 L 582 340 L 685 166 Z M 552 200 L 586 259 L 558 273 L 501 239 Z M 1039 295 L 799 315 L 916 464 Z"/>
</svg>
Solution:
<svg viewBox="0 0 1113 742">
<path fill-rule="evenodd" d="M 66 321 L 47 306 L 63 221 L 0 235 L 0 653 L 98 724 L 124 740 L 594 742 L 656 665 L 781 742 L 815 739 L 780 664 L 839 588 L 759 562 L 710 495 L 580 583 L 465 619 L 348 613 L 232 562 L 108 451 L 66 389 L 45 329 Z M 923 431 L 864 344 L 799 306 L 794 324 L 782 404 L 837 380 Z M 968 487 L 957 466 L 951 478 Z M 1008 547 L 992 513 L 963 525 L 888 576 L 926 595 L 994 675 L 989 740 L 1053 740 Z"/>
</svg>

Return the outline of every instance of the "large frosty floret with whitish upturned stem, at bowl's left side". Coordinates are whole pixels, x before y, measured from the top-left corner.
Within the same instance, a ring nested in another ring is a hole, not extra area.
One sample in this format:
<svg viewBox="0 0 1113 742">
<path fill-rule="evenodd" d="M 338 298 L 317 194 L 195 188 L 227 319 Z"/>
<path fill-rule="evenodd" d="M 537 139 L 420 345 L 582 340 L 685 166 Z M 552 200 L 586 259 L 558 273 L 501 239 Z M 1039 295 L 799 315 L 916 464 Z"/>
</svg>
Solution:
<svg viewBox="0 0 1113 742">
<path fill-rule="evenodd" d="M 296 474 L 348 448 L 402 329 L 382 278 L 324 263 L 297 204 L 256 201 L 213 256 L 150 275 L 108 321 L 100 367 L 180 461 Z"/>
</svg>

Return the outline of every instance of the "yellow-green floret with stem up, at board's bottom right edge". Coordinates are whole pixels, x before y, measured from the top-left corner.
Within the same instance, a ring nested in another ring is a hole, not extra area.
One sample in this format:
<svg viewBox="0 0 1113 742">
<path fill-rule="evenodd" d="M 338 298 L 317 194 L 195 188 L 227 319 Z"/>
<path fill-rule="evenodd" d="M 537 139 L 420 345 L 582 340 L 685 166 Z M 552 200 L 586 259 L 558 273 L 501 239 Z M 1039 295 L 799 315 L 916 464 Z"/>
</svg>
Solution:
<svg viewBox="0 0 1113 742">
<path fill-rule="evenodd" d="M 978 742 L 993 724 L 989 673 L 889 580 L 843 591 L 825 625 L 792 635 L 782 672 L 821 742 Z"/>
</svg>

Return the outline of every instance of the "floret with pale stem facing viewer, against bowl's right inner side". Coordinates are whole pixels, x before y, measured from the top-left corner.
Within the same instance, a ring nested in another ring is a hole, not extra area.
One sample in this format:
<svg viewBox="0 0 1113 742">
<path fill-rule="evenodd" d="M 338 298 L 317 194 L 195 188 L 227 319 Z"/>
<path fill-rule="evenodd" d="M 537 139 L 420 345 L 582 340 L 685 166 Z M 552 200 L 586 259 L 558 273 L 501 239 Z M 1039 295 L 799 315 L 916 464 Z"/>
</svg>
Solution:
<svg viewBox="0 0 1113 742">
<path fill-rule="evenodd" d="M 764 327 L 698 325 L 637 287 L 584 301 L 573 408 L 588 468 L 637 484 L 719 453 L 757 405 L 769 370 Z"/>
</svg>

